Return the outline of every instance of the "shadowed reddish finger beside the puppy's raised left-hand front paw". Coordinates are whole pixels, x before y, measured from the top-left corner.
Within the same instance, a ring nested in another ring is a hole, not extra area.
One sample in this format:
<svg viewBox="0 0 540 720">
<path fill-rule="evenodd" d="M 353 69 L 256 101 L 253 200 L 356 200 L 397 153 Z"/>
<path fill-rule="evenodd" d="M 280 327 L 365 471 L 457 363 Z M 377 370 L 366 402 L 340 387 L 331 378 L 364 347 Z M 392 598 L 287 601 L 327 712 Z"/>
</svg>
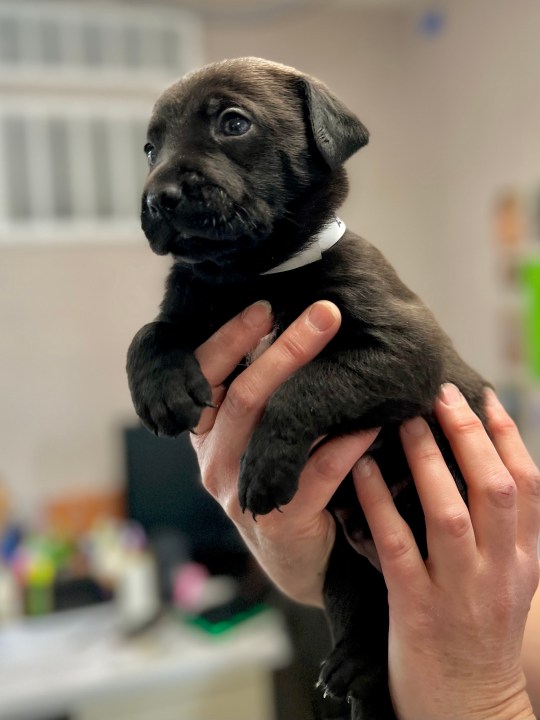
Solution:
<svg viewBox="0 0 540 720">
<path fill-rule="evenodd" d="M 257 342 L 270 332 L 271 327 L 270 303 L 259 300 L 225 323 L 195 350 L 201 371 L 212 388 L 212 402 L 216 406 L 203 411 L 195 428 L 196 434 L 205 433 L 213 426 L 217 408 L 225 396 L 222 383 Z"/>
</svg>

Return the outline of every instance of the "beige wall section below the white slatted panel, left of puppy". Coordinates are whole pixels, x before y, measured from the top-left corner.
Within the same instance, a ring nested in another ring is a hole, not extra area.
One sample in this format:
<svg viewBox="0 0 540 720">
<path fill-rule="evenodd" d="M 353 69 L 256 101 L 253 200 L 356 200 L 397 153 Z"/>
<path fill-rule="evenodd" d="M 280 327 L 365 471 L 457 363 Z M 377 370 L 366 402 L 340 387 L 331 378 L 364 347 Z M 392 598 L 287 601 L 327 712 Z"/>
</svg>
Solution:
<svg viewBox="0 0 540 720">
<path fill-rule="evenodd" d="M 142 240 L 0 250 L 0 482 L 18 515 L 120 487 L 126 350 L 156 314 L 164 267 Z"/>
</svg>

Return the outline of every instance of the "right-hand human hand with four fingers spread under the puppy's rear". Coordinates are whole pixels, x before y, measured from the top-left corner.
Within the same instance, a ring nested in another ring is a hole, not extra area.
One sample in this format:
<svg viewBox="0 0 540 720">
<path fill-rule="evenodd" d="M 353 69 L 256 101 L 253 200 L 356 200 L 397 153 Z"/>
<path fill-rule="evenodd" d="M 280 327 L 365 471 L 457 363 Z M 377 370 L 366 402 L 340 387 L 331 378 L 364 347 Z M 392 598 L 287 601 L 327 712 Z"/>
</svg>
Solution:
<svg viewBox="0 0 540 720">
<path fill-rule="evenodd" d="M 533 719 L 520 653 L 538 584 L 540 475 L 495 394 L 492 441 L 454 386 L 435 413 L 468 487 L 469 508 L 427 423 L 402 428 L 422 502 L 428 559 L 372 461 L 353 470 L 388 587 L 389 678 L 400 720 Z"/>
</svg>

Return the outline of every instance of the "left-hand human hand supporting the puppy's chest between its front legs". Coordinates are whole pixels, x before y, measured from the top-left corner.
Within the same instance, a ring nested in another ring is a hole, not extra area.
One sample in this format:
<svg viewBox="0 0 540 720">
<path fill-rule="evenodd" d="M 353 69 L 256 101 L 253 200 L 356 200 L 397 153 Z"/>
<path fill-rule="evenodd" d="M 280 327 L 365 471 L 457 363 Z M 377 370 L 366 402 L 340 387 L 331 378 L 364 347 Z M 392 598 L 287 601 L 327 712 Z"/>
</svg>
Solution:
<svg viewBox="0 0 540 720">
<path fill-rule="evenodd" d="M 275 584 L 293 599 L 318 606 L 322 606 L 324 574 L 335 538 L 334 520 L 326 505 L 376 432 L 335 438 L 318 448 L 308 460 L 291 502 L 256 521 L 240 508 L 238 474 L 240 458 L 268 398 L 323 349 L 340 321 L 335 305 L 315 303 L 227 391 L 224 380 L 270 332 L 269 308 L 260 303 L 251 306 L 195 353 L 219 406 L 203 411 L 193 437 L 203 484 Z"/>
</svg>

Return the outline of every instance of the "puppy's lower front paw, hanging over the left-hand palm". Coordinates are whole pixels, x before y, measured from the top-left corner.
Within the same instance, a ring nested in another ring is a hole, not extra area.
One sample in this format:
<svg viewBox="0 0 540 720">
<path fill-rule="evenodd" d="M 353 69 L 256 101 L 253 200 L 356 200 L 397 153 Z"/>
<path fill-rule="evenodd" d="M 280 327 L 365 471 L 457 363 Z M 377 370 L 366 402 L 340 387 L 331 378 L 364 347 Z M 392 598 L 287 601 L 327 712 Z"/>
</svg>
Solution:
<svg viewBox="0 0 540 720">
<path fill-rule="evenodd" d="M 240 463 L 238 493 L 242 509 L 266 515 L 292 500 L 307 460 L 300 445 L 279 442 L 256 431 Z"/>
</svg>

